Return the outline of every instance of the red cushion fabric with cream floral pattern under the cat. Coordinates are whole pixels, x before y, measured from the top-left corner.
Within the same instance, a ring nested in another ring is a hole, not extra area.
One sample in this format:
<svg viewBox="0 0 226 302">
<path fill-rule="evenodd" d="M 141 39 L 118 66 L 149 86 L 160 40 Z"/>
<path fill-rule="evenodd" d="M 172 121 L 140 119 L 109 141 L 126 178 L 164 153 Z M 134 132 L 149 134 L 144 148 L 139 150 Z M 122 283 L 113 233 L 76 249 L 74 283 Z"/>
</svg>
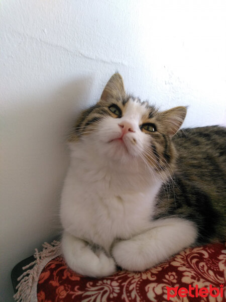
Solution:
<svg viewBox="0 0 226 302">
<path fill-rule="evenodd" d="M 39 277 L 38 301 L 225 302 L 225 283 L 226 249 L 223 244 L 188 248 L 145 272 L 119 271 L 115 275 L 100 279 L 76 274 L 59 256 L 45 266 Z M 223 284 L 223 287 L 220 287 L 220 284 Z M 177 286 L 177 291 L 167 289 Z M 181 287 L 184 289 L 180 289 Z M 206 289 L 201 289 L 203 287 Z"/>
</svg>

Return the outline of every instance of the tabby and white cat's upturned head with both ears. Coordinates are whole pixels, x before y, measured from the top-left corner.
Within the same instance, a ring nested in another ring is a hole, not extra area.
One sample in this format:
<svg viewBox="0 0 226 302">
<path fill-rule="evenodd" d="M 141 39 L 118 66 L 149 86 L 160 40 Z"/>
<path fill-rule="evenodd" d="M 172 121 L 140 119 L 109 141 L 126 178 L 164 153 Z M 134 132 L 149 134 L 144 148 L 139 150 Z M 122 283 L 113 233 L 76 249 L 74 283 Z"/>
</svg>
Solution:
<svg viewBox="0 0 226 302">
<path fill-rule="evenodd" d="M 185 107 L 160 112 L 126 94 L 121 75 L 115 73 L 100 100 L 81 113 L 70 141 L 84 142 L 112 162 L 142 162 L 162 171 L 174 160 L 171 137 L 185 115 Z"/>
</svg>

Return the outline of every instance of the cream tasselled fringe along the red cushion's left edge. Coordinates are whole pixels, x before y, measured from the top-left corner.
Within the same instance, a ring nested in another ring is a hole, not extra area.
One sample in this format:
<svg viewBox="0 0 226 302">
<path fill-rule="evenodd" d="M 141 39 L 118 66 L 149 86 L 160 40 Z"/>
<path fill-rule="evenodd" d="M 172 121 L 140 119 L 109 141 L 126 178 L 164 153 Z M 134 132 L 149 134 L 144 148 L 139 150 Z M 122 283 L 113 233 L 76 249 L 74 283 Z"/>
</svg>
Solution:
<svg viewBox="0 0 226 302">
<path fill-rule="evenodd" d="M 35 261 L 23 267 L 23 270 L 34 265 L 32 269 L 24 272 L 19 278 L 20 283 L 17 285 L 17 292 L 14 295 L 17 302 L 37 302 L 37 285 L 39 276 L 45 265 L 53 258 L 61 254 L 60 242 L 54 240 L 51 244 L 45 242 L 43 250 L 38 252 L 35 249 Z"/>
</svg>

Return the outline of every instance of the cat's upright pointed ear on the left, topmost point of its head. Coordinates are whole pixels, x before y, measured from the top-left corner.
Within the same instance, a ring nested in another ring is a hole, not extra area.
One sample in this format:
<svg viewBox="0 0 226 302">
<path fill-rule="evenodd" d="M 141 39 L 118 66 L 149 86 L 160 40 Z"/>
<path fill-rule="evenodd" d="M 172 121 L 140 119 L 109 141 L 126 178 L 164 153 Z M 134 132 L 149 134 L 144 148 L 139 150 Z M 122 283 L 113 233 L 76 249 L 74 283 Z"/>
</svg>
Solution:
<svg viewBox="0 0 226 302">
<path fill-rule="evenodd" d="M 125 97 L 125 94 L 126 92 L 122 75 L 119 73 L 115 73 L 107 82 L 101 94 L 100 100 L 106 101 L 109 97 L 115 99 L 122 99 Z"/>
</svg>

